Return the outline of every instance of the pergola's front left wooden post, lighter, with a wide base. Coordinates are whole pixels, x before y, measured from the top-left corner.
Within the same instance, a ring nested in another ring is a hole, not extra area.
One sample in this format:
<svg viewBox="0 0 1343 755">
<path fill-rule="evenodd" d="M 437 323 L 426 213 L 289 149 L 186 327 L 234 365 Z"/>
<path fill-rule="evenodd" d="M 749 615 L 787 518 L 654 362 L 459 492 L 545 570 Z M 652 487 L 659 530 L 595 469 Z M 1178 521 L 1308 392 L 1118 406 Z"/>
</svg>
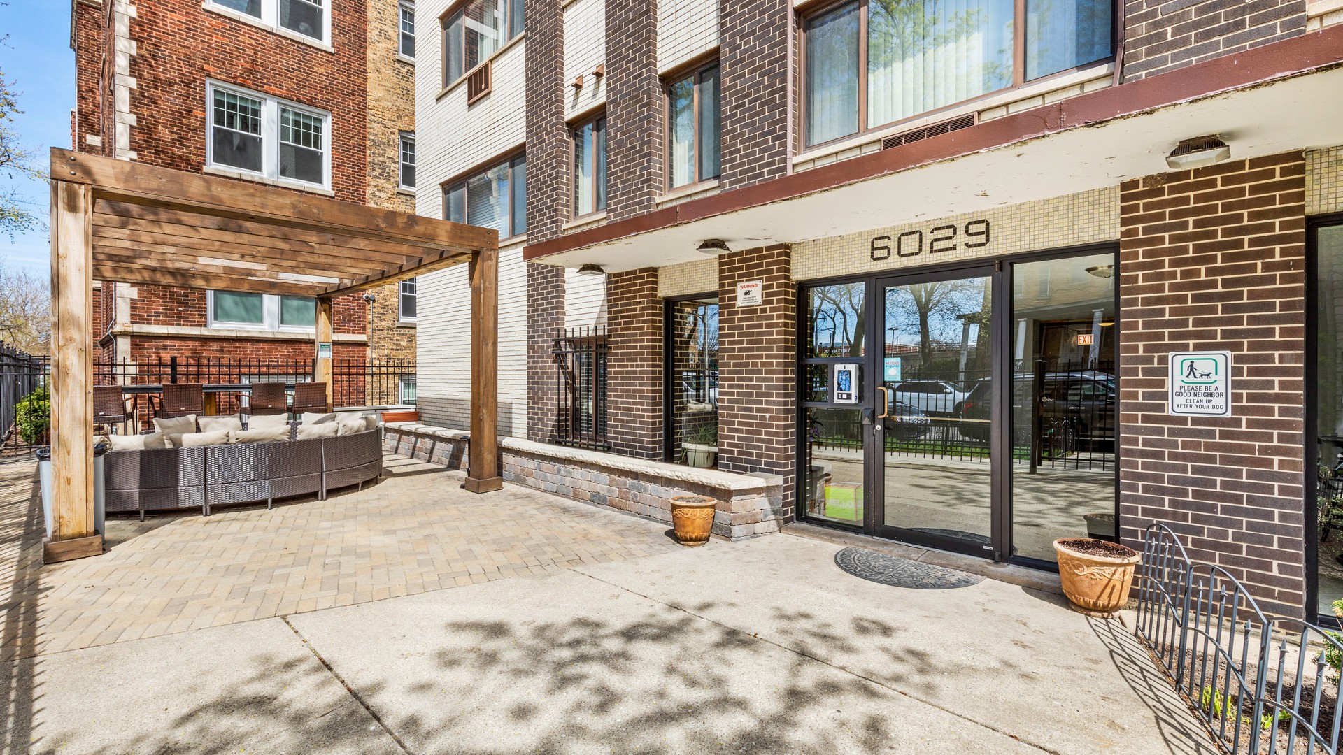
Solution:
<svg viewBox="0 0 1343 755">
<path fill-rule="evenodd" d="M 46 563 L 102 553 L 93 493 L 93 187 L 51 181 L 51 539 Z"/>
</svg>

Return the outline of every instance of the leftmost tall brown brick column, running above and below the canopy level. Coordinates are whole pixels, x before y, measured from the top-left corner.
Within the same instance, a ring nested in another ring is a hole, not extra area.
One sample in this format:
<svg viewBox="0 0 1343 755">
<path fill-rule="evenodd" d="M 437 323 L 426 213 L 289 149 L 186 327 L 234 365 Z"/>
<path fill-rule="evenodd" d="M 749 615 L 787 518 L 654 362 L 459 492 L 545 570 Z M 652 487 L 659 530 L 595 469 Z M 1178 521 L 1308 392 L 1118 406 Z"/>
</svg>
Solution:
<svg viewBox="0 0 1343 755">
<path fill-rule="evenodd" d="M 564 124 L 564 24 L 560 0 L 525 0 L 526 239 L 560 235 L 569 216 L 569 134 Z M 526 437 L 555 439 L 560 411 L 552 345 L 564 328 L 564 270 L 526 266 Z"/>
</svg>

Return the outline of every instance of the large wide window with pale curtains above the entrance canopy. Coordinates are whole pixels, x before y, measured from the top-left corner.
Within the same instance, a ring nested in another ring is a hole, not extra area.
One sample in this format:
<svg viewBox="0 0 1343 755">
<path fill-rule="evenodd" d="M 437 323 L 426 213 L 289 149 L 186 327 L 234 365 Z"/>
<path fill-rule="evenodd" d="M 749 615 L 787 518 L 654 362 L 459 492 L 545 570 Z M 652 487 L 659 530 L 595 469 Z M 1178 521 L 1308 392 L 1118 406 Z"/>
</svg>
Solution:
<svg viewBox="0 0 1343 755">
<path fill-rule="evenodd" d="M 1112 19 L 1113 0 L 834 5 L 803 23 L 806 145 L 1109 58 Z"/>
</svg>

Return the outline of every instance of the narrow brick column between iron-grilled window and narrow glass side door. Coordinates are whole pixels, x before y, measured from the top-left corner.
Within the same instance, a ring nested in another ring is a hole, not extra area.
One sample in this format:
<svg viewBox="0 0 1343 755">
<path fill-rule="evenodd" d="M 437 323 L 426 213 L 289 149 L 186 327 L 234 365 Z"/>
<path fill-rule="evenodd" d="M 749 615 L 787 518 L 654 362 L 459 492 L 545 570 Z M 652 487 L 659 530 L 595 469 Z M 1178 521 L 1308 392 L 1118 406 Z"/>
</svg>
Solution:
<svg viewBox="0 0 1343 755">
<path fill-rule="evenodd" d="M 607 275 L 606 300 L 611 450 L 662 458 L 662 300 L 657 269 Z"/>
</svg>

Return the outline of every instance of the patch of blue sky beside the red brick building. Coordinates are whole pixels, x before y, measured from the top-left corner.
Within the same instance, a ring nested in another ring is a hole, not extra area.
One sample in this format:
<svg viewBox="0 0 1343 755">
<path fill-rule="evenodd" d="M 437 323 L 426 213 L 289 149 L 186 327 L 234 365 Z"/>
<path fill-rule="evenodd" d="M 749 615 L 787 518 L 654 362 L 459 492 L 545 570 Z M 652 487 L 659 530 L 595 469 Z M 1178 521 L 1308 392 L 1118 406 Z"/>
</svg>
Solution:
<svg viewBox="0 0 1343 755">
<path fill-rule="evenodd" d="M 9 38 L 0 47 L 0 70 L 21 93 L 15 118 L 23 141 L 39 149 L 46 161 L 48 146 L 70 148 L 70 109 L 75 106 L 75 55 L 70 51 L 70 0 L 3 0 L 0 35 Z M 8 181 L 9 179 L 0 177 Z M 23 193 L 38 203 L 47 216 L 48 192 L 44 181 L 23 181 Z M 47 234 L 0 235 L 0 257 L 5 265 L 27 267 L 46 275 L 51 246 Z"/>
</svg>

